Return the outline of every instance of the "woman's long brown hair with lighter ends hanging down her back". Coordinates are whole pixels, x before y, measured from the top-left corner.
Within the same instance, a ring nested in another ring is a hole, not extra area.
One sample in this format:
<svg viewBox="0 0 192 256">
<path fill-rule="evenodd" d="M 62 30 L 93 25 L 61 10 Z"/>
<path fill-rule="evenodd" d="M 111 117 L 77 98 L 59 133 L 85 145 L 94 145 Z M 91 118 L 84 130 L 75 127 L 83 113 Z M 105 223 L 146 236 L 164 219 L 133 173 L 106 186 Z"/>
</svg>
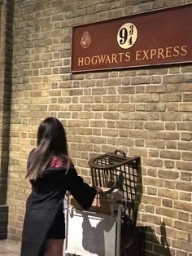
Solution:
<svg viewBox="0 0 192 256">
<path fill-rule="evenodd" d="M 62 123 L 55 117 L 48 117 L 38 127 L 37 148 L 28 157 L 26 178 L 41 176 L 53 156 L 68 160 L 68 145 Z"/>
</svg>

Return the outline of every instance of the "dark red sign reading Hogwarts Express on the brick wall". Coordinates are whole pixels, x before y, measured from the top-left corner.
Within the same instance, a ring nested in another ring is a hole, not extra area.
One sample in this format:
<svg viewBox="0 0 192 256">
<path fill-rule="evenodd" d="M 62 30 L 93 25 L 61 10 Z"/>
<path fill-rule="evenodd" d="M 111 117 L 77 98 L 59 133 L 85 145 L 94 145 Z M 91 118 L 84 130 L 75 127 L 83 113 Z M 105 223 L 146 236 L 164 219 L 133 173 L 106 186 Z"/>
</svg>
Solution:
<svg viewBox="0 0 192 256">
<path fill-rule="evenodd" d="M 192 61 L 192 4 L 72 28 L 72 73 Z"/>
</svg>

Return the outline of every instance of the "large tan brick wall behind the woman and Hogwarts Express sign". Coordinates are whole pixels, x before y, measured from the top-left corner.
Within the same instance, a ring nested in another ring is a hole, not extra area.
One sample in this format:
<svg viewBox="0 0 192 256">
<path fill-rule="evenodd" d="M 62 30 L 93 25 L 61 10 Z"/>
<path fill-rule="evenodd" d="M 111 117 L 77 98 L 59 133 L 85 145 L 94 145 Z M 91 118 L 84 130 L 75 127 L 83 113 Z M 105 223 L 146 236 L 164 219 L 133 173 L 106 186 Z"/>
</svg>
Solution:
<svg viewBox="0 0 192 256">
<path fill-rule="evenodd" d="M 37 126 L 59 117 L 72 161 L 89 179 L 95 154 L 141 157 L 138 226 L 147 255 L 191 256 L 192 65 L 70 73 L 72 25 L 191 1 L 15 0 L 8 204 L 19 240 L 30 192 L 26 159 Z"/>
</svg>

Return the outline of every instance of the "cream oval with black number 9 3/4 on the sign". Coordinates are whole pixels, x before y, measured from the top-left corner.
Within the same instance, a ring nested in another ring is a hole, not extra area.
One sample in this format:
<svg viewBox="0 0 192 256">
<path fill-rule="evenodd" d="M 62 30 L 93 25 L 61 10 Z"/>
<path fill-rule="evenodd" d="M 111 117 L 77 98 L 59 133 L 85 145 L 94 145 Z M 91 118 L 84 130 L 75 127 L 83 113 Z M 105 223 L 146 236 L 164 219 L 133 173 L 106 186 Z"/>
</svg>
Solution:
<svg viewBox="0 0 192 256">
<path fill-rule="evenodd" d="M 133 23 L 123 24 L 117 33 L 118 45 L 123 49 L 129 49 L 137 40 L 137 28 Z"/>
</svg>

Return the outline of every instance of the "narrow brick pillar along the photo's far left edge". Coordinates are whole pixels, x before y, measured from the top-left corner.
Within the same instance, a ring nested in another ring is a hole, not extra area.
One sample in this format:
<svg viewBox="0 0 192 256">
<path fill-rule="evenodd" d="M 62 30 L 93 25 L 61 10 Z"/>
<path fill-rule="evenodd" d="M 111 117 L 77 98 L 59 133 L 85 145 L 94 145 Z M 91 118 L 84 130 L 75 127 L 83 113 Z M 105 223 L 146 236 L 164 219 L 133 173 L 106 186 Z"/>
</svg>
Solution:
<svg viewBox="0 0 192 256">
<path fill-rule="evenodd" d="M 0 2 L 0 239 L 7 237 L 13 1 Z"/>
</svg>

